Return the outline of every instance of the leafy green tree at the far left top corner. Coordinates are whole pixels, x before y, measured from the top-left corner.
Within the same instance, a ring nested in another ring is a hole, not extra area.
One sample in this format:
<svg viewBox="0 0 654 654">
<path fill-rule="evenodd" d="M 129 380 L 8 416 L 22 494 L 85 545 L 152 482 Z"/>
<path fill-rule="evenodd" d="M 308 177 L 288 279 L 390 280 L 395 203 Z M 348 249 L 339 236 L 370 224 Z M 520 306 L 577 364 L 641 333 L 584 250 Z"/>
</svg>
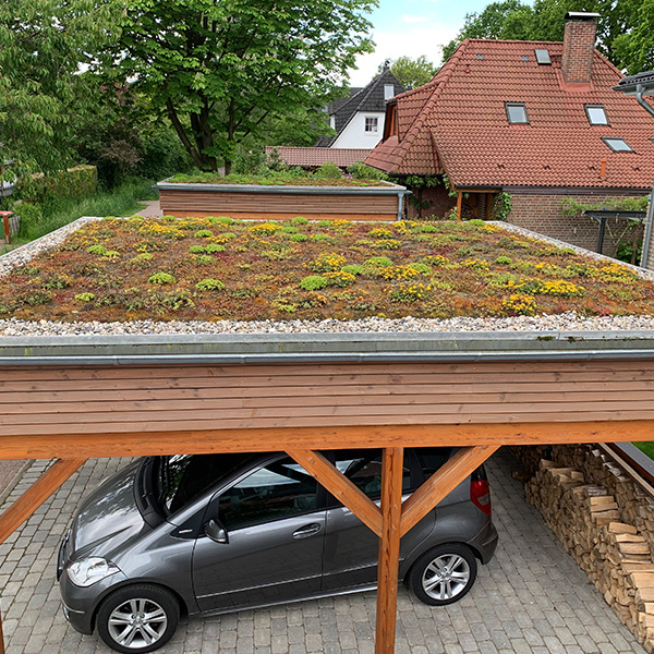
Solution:
<svg viewBox="0 0 654 654">
<path fill-rule="evenodd" d="M 0 159 L 51 171 L 71 161 L 75 129 L 92 111 L 87 64 L 116 5 L 94 0 L 0 2 Z"/>
</svg>

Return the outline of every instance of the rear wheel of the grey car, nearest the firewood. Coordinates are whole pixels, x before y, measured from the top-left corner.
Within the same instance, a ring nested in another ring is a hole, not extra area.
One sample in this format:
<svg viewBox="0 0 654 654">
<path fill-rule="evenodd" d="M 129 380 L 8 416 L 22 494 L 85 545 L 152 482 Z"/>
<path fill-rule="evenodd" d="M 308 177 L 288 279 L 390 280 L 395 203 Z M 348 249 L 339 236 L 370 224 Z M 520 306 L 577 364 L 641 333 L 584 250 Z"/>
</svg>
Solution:
<svg viewBox="0 0 654 654">
<path fill-rule="evenodd" d="M 460 543 L 438 545 L 425 552 L 409 572 L 415 596 L 431 606 L 453 604 L 474 585 L 477 562 L 472 550 Z"/>
</svg>

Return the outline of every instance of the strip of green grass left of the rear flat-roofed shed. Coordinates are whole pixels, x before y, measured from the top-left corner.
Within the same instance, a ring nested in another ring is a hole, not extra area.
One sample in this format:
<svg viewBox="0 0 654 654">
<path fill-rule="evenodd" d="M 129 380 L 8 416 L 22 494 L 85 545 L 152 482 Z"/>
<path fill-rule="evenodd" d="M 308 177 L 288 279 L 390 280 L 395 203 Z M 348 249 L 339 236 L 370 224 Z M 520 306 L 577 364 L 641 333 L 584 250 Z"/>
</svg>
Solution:
<svg viewBox="0 0 654 654">
<path fill-rule="evenodd" d="M 156 199 L 152 185 L 149 180 L 130 180 L 111 191 L 100 191 L 86 197 L 48 199 L 43 206 L 43 218 L 21 220 L 21 232 L 13 245 L 34 241 L 82 216 L 130 216 L 144 207 L 141 201 Z"/>
</svg>

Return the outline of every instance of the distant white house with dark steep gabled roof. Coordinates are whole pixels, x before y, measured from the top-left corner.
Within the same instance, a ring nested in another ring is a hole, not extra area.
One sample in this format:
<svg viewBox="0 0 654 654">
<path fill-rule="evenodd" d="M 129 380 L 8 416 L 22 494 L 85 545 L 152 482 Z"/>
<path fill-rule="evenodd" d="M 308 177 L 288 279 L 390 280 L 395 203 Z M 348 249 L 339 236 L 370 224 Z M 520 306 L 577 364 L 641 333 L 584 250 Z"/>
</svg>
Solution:
<svg viewBox="0 0 654 654">
<path fill-rule="evenodd" d="M 351 88 L 343 98 L 327 105 L 334 136 L 322 136 L 317 147 L 372 149 L 382 140 L 386 102 L 404 87 L 390 72 L 388 63 L 364 88 Z"/>
</svg>

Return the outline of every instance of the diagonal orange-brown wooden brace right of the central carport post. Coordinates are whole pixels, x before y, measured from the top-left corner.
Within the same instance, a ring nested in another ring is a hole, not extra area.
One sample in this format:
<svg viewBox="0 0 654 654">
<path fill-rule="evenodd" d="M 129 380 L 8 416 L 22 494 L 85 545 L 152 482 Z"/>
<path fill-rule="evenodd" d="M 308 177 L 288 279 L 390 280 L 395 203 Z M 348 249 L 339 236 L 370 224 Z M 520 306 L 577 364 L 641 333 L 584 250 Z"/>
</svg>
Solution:
<svg viewBox="0 0 654 654">
<path fill-rule="evenodd" d="M 495 445 L 461 448 L 402 505 L 400 535 L 415 526 L 441 499 L 476 470 L 493 452 Z"/>
</svg>

